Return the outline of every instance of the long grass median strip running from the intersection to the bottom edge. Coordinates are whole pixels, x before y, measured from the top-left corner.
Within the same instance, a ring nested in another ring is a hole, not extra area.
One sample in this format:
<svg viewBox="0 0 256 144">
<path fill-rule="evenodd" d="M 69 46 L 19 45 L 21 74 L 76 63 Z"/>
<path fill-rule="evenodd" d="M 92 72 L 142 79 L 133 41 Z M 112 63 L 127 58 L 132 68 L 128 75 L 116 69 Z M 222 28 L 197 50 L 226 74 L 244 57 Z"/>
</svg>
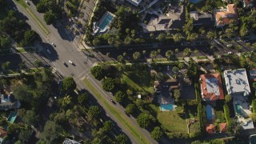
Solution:
<svg viewBox="0 0 256 144">
<path fill-rule="evenodd" d="M 94 86 L 86 79 L 83 79 L 83 82 L 86 84 L 86 86 L 89 88 L 89 90 L 98 98 L 99 101 L 102 102 L 103 105 L 106 106 L 108 110 L 112 114 L 114 114 L 115 118 L 118 118 L 119 122 L 122 123 L 123 126 L 126 126 L 127 130 L 130 131 L 130 134 L 134 136 L 138 140 L 139 143 L 150 143 L 149 140 L 143 135 L 140 134 L 139 131 L 136 129 L 135 126 L 128 120 L 124 114 L 122 114 L 119 110 L 114 108 L 114 106 L 111 106 L 109 102 L 106 102 L 105 98 L 102 98 L 102 95 L 94 88 Z"/>
</svg>

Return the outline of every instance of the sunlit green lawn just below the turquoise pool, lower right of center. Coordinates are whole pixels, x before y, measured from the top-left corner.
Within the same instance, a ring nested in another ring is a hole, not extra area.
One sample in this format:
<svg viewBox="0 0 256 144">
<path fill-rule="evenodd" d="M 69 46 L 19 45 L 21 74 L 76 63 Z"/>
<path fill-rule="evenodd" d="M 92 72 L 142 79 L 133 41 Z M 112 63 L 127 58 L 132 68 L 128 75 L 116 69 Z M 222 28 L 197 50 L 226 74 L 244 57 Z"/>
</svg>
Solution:
<svg viewBox="0 0 256 144">
<path fill-rule="evenodd" d="M 161 112 L 159 106 L 149 105 L 157 114 L 158 121 L 170 132 L 186 133 L 186 119 L 181 118 L 176 111 Z"/>
</svg>

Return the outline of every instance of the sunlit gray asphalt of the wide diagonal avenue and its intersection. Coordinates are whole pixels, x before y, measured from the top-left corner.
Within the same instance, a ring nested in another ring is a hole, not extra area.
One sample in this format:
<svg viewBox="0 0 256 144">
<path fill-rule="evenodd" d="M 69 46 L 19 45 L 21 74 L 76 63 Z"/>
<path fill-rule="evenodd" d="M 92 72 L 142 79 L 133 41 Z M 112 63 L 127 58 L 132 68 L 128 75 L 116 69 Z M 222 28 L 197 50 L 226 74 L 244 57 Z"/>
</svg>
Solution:
<svg viewBox="0 0 256 144">
<path fill-rule="evenodd" d="M 16 4 L 15 1 L 13 2 Z M 109 100 L 110 94 L 102 90 L 100 82 L 95 81 L 94 78 L 90 75 L 90 67 L 94 65 L 94 62 L 97 62 L 98 60 L 104 61 L 105 58 L 100 56 L 101 54 L 94 54 L 96 58 L 89 58 L 88 52 L 82 52 L 81 50 L 78 50 L 78 41 L 80 38 L 79 36 L 74 36 L 74 34 L 70 33 L 68 30 L 65 30 L 64 26 L 62 26 L 62 22 L 58 22 L 55 27 L 53 25 L 46 25 L 46 22 L 43 20 L 43 14 L 39 14 L 36 11 L 36 7 L 33 3 L 30 4 L 30 10 L 32 10 L 38 19 L 42 22 L 42 24 L 46 26 L 46 28 L 50 31 L 50 34 L 44 34 L 38 24 L 34 22 L 34 19 L 30 17 L 30 14 L 28 14 L 22 6 L 18 4 L 16 6 L 18 11 L 20 11 L 22 14 L 25 14 L 28 18 L 26 22 L 31 26 L 31 29 L 37 31 L 42 38 L 42 44 L 39 44 L 38 49 L 41 50 L 43 56 L 48 60 L 54 70 L 57 70 L 59 74 L 62 74 L 65 77 L 73 76 L 74 80 L 78 84 L 78 89 L 81 90 L 85 89 L 82 78 L 90 78 L 94 87 L 101 92 L 104 98 Z M 53 42 L 55 46 L 51 46 L 51 42 Z M 29 62 L 30 60 L 27 61 Z M 69 61 L 72 61 L 74 65 L 71 65 Z M 63 62 L 66 62 L 67 66 L 65 66 Z M 112 102 L 110 103 L 112 104 Z M 102 105 L 102 103 L 99 104 Z M 125 114 L 122 106 L 114 106 L 123 114 Z M 130 138 L 131 142 L 138 143 L 133 135 L 131 135 L 130 132 L 126 130 L 126 127 L 122 126 L 122 123 L 119 122 L 108 110 L 106 110 L 106 115 L 110 116 L 110 118 L 112 118 L 118 124 L 122 131 Z M 127 120 L 130 120 L 134 126 L 138 127 L 138 124 L 134 119 L 127 117 Z M 150 133 L 148 131 L 139 127 L 138 130 L 140 131 L 140 134 L 144 134 L 151 143 L 157 143 L 152 138 L 150 138 Z"/>
</svg>

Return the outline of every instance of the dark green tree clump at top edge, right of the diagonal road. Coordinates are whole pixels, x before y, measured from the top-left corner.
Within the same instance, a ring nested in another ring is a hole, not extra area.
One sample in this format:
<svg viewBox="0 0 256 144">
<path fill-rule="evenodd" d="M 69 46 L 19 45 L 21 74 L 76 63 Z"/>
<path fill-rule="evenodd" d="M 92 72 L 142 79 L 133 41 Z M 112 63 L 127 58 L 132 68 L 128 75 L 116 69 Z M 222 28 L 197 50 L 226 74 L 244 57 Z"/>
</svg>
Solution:
<svg viewBox="0 0 256 144">
<path fill-rule="evenodd" d="M 40 0 L 37 4 L 37 10 L 39 13 L 45 13 L 43 18 L 47 25 L 62 17 L 62 7 L 56 1 Z"/>
</svg>

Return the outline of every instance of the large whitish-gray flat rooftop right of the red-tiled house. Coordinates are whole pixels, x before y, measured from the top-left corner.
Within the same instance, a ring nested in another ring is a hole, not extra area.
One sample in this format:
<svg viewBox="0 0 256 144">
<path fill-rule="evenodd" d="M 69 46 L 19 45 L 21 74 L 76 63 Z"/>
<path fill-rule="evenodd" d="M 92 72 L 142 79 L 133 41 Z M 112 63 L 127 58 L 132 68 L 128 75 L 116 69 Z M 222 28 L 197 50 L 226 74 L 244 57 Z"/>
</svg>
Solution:
<svg viewBox="0 0 256 144">
<path fill-rule="evenodd" d="M 242 93 L 244 96 L 250 94 L 246 69 L 225 70 L 224 78 L 228 94 Z"/>
</svg>

